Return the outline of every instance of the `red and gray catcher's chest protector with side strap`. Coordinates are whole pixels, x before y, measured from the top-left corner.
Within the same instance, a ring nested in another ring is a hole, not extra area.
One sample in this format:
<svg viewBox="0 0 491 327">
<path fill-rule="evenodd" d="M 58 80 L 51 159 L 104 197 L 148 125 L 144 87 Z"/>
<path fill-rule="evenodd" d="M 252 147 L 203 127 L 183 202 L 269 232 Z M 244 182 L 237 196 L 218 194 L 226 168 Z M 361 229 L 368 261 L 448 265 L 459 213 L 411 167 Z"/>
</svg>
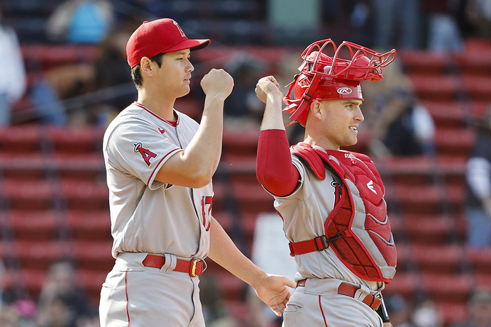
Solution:
<svg viewBox="0 0 491 327">
<path fill-rule="evenodd" d="M 360 278 L 391 282 L 397 252 L 387 218 L 385 187 L 367 155 L 321 150 L 307 143 L 292 146 L 316 177 L 326 178 L 325 164 L 343 181 L 341 197 L 324 224 L 324 233 L 312 240 L 290 243 L 291 255 L 333 249 L 351 272 Z"/>
</svg>

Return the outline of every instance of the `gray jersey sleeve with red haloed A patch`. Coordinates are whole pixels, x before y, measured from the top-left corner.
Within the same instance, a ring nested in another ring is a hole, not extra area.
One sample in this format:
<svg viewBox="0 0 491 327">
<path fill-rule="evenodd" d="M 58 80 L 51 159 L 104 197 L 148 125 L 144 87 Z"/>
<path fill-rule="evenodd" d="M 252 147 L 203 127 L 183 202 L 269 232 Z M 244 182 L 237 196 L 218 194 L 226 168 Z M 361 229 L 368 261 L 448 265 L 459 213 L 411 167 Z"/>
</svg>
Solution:
<svg viewBox="0 0 491 327">
<path fill-rule="evenodd" d="M 121 123 L 114 128 L 106 146 L 108 161 L 115 169 L 141 179 L 152 190 L 165 185 L 155 181 L 155 176 L 180 151 L 180 146 L 145 121 Z"/>
</svg>

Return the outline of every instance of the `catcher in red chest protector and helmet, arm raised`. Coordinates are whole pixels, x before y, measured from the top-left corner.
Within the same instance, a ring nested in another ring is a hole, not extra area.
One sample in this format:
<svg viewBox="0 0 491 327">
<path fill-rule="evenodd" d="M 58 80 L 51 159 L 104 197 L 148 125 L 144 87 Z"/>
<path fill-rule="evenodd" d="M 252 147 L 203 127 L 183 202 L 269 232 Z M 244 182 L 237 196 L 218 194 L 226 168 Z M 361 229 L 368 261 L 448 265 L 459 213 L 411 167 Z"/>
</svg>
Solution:
<svg viewBox="0 0 491 327">
<path fill-rule="evenodd" d="M 303 142 L 289 148 L 275 78 L 255 89 L 266 104 L 257 177 L 275 198 L 297 264 L 283 326 L 391 326 L 380 292 L 395 275 L 397 253 L 384 185 L 369 157 L 340 148 L 357 142 L 360 81 L 382 79 L 395 50 L 336 48 L 328 39 L 309 45 L 302 59 L 284 111 L 305 127 Z"/>
</svg>

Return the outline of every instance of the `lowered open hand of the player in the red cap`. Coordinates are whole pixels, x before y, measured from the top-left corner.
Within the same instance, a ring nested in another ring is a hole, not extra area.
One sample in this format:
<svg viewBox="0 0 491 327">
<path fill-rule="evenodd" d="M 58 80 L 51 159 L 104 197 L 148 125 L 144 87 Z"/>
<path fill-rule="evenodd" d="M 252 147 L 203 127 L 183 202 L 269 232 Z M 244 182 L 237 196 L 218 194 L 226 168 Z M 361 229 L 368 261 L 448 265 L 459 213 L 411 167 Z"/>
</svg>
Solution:
<svg viewBox="0 0 491 327">
<path fill-rule="evenodd" d="M 287 307 L 292 292 L 287 287 L 294 288 L 296 284 L 287 277 L 266 275 L 258 284 L 252 285 L 255 294 L 277 315 L 281 316 Z"/>
</svg>

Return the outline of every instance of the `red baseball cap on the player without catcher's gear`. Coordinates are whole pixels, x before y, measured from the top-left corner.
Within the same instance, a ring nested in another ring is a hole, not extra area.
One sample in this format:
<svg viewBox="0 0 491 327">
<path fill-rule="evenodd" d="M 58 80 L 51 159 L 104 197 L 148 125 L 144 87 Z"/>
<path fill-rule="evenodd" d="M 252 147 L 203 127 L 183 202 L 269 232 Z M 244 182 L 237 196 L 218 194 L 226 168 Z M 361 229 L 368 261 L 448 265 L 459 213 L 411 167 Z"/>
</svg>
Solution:
<svg viewBox="0 0 491 327">
<path fill-rule="evenodd" d="M 126 43 L 126 57 L 131 68 L 143 57 L 183 49 L 199 50 L 210 44 L 208 39 L 189 40 L 176 21 L 160 18 L 144 21 Z"/>
</svg>

